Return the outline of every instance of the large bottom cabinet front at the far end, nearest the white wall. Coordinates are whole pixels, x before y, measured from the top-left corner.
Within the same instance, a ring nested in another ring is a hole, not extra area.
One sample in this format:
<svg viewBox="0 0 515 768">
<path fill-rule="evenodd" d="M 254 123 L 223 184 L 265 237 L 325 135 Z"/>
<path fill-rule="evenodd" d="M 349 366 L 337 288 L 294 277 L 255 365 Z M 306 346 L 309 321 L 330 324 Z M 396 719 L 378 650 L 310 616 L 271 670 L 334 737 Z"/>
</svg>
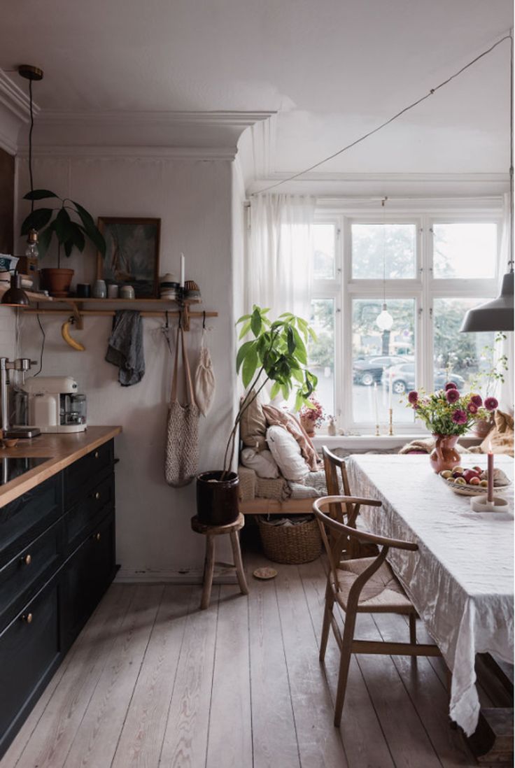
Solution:
<svg viewBox="0 0 515 768">
<path fill-rule="evenodd" d="M 62 572 L 61 641 L 68 650 L 115 576 L 115 515 L 101 521 Z"/>
</svg>

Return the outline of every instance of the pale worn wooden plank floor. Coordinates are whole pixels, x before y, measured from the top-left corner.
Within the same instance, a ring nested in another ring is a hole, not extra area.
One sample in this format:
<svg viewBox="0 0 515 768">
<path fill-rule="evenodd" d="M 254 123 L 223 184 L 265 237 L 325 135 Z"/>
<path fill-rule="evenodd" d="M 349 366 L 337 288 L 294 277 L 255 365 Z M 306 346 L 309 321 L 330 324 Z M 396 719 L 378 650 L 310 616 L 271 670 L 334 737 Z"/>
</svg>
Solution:
<svg viewBox="0 0 515 768">
<path fill-rule="evenodd" d="M 454 768 L 475 766 L 449 727 L 435 660 L 354 658 L 334 728 L 337 647 L 317 657 L 321 560 L 246 554 L 251 588 L 113 584 L 0 768 Z M 361 637 L 407 638 L 403 617 L 360 617 Z M 424 632 L 420 627 L 420 639 Z"/>
</svg>

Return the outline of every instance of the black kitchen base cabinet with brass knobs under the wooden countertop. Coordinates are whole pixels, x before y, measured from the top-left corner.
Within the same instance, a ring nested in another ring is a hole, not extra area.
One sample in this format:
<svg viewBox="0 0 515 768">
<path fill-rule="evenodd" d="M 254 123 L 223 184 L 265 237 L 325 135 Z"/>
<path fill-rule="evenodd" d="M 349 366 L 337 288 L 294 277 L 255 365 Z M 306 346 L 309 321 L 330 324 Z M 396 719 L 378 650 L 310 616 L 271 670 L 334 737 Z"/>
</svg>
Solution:
<svg viewBox="0 0 515 768">
<path fill-rule="evenodd" d="M 114 441 L 0 508 L 0 757 L 115 577 Z"/>
</svg>

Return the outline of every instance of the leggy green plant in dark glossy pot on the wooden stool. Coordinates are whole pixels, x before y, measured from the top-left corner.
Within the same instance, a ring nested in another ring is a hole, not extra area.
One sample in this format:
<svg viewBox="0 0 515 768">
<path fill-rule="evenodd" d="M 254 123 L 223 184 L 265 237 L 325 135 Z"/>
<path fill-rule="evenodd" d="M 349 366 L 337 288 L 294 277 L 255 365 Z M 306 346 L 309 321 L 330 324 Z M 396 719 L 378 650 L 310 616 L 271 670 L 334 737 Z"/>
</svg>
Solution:
<svg viewBox="0 0 515 768">
<path fill-rule="evenodd" d="M 236 356 L 236 371 L 247 394 L 241 399 L 224 452 L 223 469 L 202 472 L 197 477 L 197 514 L 205 525 L 228 525 L 238 518 L 238 474 L 231 472 L 234 447 L 241 417 L 257 398 L 267 382 L 273 382 L 273 400 L 282 394 L 287 400 L 296 391 L 295 410 L 314 408 L 310 400 L 317 386 L 317 376 L 307 369 L 307 340 L 316 340 L 306 320 L 289 312 L 272 323 L 270 310 L 254 305 L 250 315 L 238 320 L 242 324 L 240 339 L 252 333 L 254 339 L 244 342 Z"/>
</svg>

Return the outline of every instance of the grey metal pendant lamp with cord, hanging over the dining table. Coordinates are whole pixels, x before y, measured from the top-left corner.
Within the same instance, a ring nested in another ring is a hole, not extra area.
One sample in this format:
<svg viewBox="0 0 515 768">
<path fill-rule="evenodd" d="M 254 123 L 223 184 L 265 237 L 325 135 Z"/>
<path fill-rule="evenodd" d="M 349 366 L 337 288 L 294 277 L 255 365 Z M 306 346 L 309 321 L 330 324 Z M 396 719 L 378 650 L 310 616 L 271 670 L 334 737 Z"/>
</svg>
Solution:
<svg viewBox="0 0 515 768">
<path fill-rule="evenodd" d="M 513 331 L 513 34 L 510 35 L 510 232 L 508 271 L 503 276 L 500 295 L 469 310 L 460 328 L 462 333 Z"/>
</svg>

